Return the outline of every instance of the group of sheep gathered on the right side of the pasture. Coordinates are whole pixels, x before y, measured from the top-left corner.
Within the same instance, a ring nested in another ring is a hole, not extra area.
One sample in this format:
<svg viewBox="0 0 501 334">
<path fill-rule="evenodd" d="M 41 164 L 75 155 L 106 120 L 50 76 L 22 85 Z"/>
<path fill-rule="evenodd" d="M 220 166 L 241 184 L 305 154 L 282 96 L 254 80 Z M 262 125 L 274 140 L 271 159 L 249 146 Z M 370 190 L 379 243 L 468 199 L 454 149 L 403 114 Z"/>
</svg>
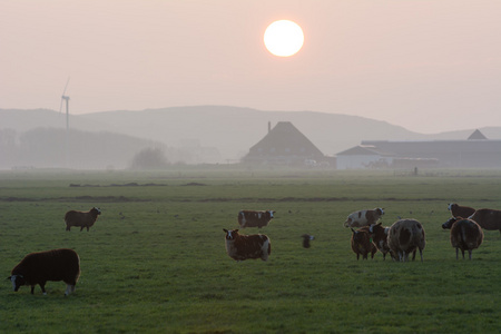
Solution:
<svg viewBox="0 0 501 334">
<path fill-rule="evenodd" d="M 501 210 L 478 209 L 460 206 L 455 203 L 449 204 L 452 217 L 442 224 L 442 228 L 451 229 L 451 245 L 455 248 L 456 258 L 461 250 L 463 258 L 468 250 L 469 258 L 473 249 L 480 247 L 483 240 L 483 230 L 499 229 L 501 232 Z M 384 215 L 383 208 L 360 210 L 347 216 L 345 227 L 352 229 L 351 246 L 358 259 L 374 257 L 380 250 L 383 259 L 386 254 L 395 261 L 405 262 L 412 254 L 415 259 L 416 250 L 423 261 L 423 249 L 426 245 L 426 235 L 423 225 L 416 219 L 399 219 L 393 225 L 383 227 L 377 220 Z M 358 227 L 354 229 L 353 227 Z"/>
</svg>

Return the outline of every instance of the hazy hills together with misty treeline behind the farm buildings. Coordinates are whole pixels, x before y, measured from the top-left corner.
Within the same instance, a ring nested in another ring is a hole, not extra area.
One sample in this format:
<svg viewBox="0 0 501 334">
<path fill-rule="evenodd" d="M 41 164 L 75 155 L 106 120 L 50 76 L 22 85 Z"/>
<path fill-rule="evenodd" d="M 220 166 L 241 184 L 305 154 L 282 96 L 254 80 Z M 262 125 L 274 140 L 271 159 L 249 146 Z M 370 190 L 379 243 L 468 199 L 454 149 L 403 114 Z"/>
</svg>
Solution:
<svg viewBox="0 0 501 334">
<path fill-rule="evenodd" d="M 67 134 L 63 112 L 0 109 L 0 168 L 128 168 L 145 149 L 161 150 L 168 164 L 234 164 L 278 121 L 291 121 L 326 156 L 362 140 L 465 139 L 474 130 L 424 135 L 356 116 L 198 106 L 70 114 Z M 501 138 L 501 128 L 481 130 Z"/>
</svg>

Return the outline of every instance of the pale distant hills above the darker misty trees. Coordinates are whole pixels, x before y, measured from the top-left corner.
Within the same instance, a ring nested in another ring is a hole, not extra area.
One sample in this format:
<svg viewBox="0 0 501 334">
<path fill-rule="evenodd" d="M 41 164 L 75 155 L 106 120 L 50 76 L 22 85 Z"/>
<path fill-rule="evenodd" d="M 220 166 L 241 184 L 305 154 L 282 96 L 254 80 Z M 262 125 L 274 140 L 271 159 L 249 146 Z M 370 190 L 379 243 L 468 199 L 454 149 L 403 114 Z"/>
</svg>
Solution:
<svg viewBox="0 0 501 334">
<path fill-rule="evenodd" d="M 291 121 L 323 154 L 335 155 L 362 140 L 465 139 L 474 129 L 423 135 L 385 121 L 314 111 L 262 111 L 226 106 L 173 107 L 141 111 L 104 111 L 71 115 L 70 128 L 116 132 L 168 147 L 199 147 L 220 154 L 222 163 L 237 160 L 267 132 L 268 121 Z M 0 128 L 22 134 L 36 127 L 66 127 L 66 115 L 52 110 L 2 110 Z M 481 128 L 488 138 L 501 139 L 501 128 Z M 205 158 L 198 158 L 203 163 Z M 207 158 L 213 159 L 214 158 Z"/>
</svg>

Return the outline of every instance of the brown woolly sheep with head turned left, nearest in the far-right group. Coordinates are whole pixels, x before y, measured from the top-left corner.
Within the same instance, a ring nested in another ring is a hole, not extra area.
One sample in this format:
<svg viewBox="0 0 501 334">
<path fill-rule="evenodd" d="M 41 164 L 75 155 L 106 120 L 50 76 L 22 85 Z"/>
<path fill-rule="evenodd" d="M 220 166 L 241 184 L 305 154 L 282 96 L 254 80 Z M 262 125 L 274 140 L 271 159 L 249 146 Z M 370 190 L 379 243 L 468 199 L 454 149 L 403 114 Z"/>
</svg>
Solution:
<svg viewBox="0 0 501 334">
<path fill-rule="evenodd" d="M 459 249 L 463 254 L 468 250 L 471 259 L 471 252 L 479 248 L 483 242 L 483 232 L 479 224 L 472 219 L 452 217 L 442 224 L 442 228 L 451 229 L 451 244 L 455 247 L 455 259 L 459 257 Z"/>
</svg>

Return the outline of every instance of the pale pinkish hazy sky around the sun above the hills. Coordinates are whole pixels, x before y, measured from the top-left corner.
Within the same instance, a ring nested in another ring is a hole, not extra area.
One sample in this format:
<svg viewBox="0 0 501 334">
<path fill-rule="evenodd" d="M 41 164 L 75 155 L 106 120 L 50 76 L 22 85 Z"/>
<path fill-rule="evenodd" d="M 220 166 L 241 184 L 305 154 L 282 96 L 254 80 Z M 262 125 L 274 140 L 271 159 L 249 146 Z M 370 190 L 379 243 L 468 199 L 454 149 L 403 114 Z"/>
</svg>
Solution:
<svg viewBox="0 0 501 334">
<path fill-rule="evenodd" d="M 499 0 L 0 0 L 0 109 L 224 105 L 501 126 Z M 287 19 L 292 57 L 263 36 Z M 1 126 L 1 125 L 0 125 Z M 356 129 L 354 129 L 356 130 Z"/>
</svg>

